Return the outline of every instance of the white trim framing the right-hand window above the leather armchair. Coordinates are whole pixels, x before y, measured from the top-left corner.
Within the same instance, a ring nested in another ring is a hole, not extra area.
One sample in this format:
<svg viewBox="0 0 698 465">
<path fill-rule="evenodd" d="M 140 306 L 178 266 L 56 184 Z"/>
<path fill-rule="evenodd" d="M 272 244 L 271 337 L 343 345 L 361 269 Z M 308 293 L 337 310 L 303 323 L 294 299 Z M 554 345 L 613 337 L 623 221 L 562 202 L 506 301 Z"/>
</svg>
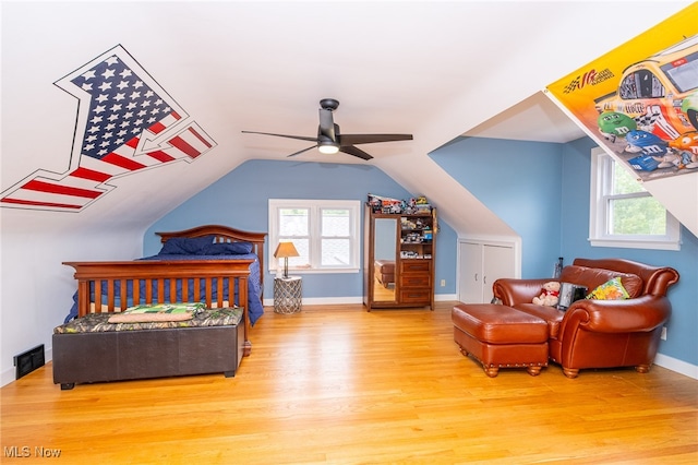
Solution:
<svg viewBox="0 0 698 465">
<path fill-rule="evenodd" d="M 589 241 L 592 247 L 617 247 L 626 249 L 681 250 L 681 225 L 666 211 L 666 235 L 664 236 L 623 236 L 607 234 L 606 200 L 604 199 L 604 172 L 609 163 L 625 168 L 600 147 L 591 151 L 591 187 L 589 207 Z M 629 169 L 629 168 L 626 168 Z"/>
</svg>

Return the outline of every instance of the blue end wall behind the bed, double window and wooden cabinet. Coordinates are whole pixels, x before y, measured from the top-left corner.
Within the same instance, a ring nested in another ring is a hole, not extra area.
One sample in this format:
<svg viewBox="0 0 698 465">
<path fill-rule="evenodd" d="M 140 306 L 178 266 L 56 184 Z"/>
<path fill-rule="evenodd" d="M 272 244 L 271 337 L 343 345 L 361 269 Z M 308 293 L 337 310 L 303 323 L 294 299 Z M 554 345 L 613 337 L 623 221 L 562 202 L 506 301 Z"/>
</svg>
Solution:
<svg viewBox="0 0 698 465">
<path fill-rule="evenodd" d="M 385 172 L 371 165 L 250 160 L 192 196 L 157 220 L 145 234 L 144 254 L 160 250 L 155 231 L 186 229 L 220 224 L 252 231 L 268 230 L 268 199 L 328 199 L 366 201 L 369 193 L 409 199 L 421 192 L 408 192 Z M 438 205 L 435 205 L 436 207 Z M 363 212 L 362 212 L 363 214 Z M 436 246 L 436 283 L 446 286 L 436 294 L 456 294 L 457 236 L 440 222 Z M 274 245 L 275 246 L 275 245 Z M 362 246 L 363 247 L 363 246 Z M 267 238 L 265 257 L 272 257 Z M 363 257 L 363 251 L 362 255 Z M 302 274 L 302 272 L 293 272 Z M 272 296 L 273 278 L 265 270 L 265 296 Z M 303 297 L 361 297 L 363 273 L 305 274 Z"/>
</svg>

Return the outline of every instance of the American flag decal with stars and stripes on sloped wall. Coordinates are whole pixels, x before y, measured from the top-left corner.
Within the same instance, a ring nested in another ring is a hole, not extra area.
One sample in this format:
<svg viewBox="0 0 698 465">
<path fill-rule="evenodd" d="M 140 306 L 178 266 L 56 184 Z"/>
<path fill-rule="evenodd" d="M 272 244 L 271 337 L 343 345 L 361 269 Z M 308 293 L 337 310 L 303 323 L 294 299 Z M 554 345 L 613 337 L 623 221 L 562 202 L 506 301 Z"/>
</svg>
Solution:
<svg viewBox="0 0 698 465">
<path fill-rule="evenodd" d="M 33 172 L 0 206 L 80 212 L 113 189 L 111 178 L 191 163 L 216 146 L 121 46 L 55 84 L 79 99 L 70 168 Z"/>
</svg>

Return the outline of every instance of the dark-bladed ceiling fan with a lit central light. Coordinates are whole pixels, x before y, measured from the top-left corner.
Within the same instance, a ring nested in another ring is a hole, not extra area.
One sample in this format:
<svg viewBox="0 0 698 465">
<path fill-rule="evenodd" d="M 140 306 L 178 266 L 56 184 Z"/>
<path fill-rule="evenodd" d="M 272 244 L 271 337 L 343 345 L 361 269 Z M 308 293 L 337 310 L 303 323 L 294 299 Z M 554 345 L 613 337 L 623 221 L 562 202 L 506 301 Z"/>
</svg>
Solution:
<svg viewBox="0 0 698 465">
<path fill-rule="evenodd" d="M 317 147 L 323 154 L 336 154 L 344 152 L 363 159 L 373 158 L 371 155 L 356 147 L 358 144 L 372 144 L 376 142 L 411 141 L 412 134 L 340 134 L 339 126 L 335 124 L 332 112 L 339 107 L 339 102 L 334 98 L 323 98 L 320 100 L 320 126 L 316 138 L 304 135 L 273 134 L 270 132 L 242 131 L 246 134 L 275 135 L 278 138 L 298 139 L 301 141 L 314 142 L 308 148 L 298 151 L 289 156 L 296 156 Z"/>
</svg>

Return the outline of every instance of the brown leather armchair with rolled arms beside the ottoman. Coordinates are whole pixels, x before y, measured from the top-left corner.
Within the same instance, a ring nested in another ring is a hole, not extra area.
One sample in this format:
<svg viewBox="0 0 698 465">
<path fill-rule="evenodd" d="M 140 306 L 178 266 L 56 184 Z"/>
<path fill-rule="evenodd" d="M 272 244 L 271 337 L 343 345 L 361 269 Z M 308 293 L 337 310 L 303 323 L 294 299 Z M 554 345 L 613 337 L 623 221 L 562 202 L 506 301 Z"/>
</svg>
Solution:
<svg viewBox="0 0 698 465">
<path fill-rule="evenodd" d="M 662 326 L 671 314 L 666 297 L 678 282 L 671 267 L 650 266 L 624 259 L 575 259 L 562 271 L 559 282 L 582 285 L 589 291 L 621 276 L 630 298 L 575 301 L 566 311 L 532 303 L 543 279 L 497 279 L 495 298 L 517 310 L 547 321 L 550 358 L 567 378 L 583 368 L 635 367 L 648 372 L 657 355 Z"/>
</svg>

